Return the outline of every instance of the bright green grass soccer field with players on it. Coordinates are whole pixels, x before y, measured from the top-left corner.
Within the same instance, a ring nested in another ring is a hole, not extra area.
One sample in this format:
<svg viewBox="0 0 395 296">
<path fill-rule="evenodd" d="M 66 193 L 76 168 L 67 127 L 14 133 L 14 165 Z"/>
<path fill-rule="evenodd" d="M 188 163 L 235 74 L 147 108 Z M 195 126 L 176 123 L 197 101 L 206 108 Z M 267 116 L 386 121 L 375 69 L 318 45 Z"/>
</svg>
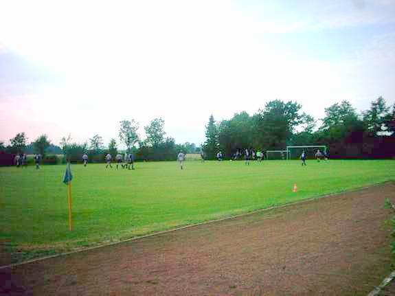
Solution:
<svg viewBox="0 0 395 296">
<path fill-rule="evenodd" d="M 113 242 L 272 205 L 394 180 L 395 161 L 191 161 L 71 166 L 74 231 L 68 231 L 65 166 L 0 168 L 1 240 L 12 261 Z M 297 183 L 298 191 L 292 192 Z"/>
</svg>

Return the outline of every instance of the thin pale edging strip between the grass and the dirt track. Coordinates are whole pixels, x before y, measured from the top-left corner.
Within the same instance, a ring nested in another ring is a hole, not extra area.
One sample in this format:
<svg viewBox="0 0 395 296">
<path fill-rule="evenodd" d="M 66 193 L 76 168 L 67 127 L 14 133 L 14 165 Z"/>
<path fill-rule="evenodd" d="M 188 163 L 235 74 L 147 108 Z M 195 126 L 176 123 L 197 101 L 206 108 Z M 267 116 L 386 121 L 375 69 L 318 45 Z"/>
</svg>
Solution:
<svg viewBox="0 0 395 296">
<path fill-rule="evenodd" d="M 38 261 L 43 261 L 43 260 L 47 260 L 47 259 L 51 259 L 51 258 L 65 256 L 65 255 L 71 255 L 71 254 L 74 254 L 74 253 L 80 253 L 80 252 L 84 252 L 84 251 L 91 251 L 93 249 L 99 249 L 99 248 L 102 248 L 102 247 L 109 247 L 109 246 L 113 246 L 114 244 L 122 244 L 123 242 L 131 242 L 133 240 L 140 240 L 140 239 L 143 239 L 143 238 L 148 238 L 150 236 L 159 236 L 161 234 L 168 234 L 169 232 L 172 232 L 172 231 L 179 231 L 179 230 L 188 229 L 188 228 L 192 228 L 192 227 L 198 227 L 198 226 L 205 225 L 205 224 L 217 223 L 217 222 L 221 222 L 221 221 L 224 221 L 224 220 L 229 220 L 229 219 L 239 218 L 239 217 L 242 217 L 242 216 L 248 216 L 248 215 L 252 215 L 252 214 L 256 214 L 256 213 L 260 213 L 260 212 L 270 211 L 272 209 L 280 209 L 282 207 L 289 207 L 291 205 L 297 205 L 297 204 L 301 204 L 301 203 L 308 203 L 308 202 L 311 202 L 311 201 L 316 201 L 317 199 L 329 198 L 329 197 L 336 196 L 336 195 L 339 195 L 339 194 L 343 194 L 343 193 L 346 193 L 346 192 L 357 192 L 357 191 L 368 189 L 370 187 L 383 186 L 383 185 L 385 185 L 387 183 L 394 183 L 394 181 L 384 181 L 382 183 L 376 183 L 376 184 L 372 184 L 372 185 L 366 185 L 366 186 L 363 186 L 363 187 L 357 187 L 357 188 L 354 188 L 352 190 L 342 190 L 342 191 L 339 191 L 339 192 L 334 192 L 334 193 L 330 193 L 330 194 L 324 194 L 324 195 L 321 195 L 321 196 L 315 196 L 315 197 L 311 197 L 311 198 L 306 198 L 306 199 L 304 199 L 302 201 L 294 201 L 294 202 L 291 202 L 291 203 L 284 203 L 282 205 L 275 205 L 275 206 L 272 206 L 272 207 L 265 207 L 264 209 L 255 209 L 255 210 L 253 210 L 251 212 L 238 214 L 238 215 L 235 215 L 235 216 L 219 218 L 219 219 L 216 219 L 216 220 L 208 220 L 208 221 L 204 221 L 204 222 L 201 222 L 201 223 L 196 223 L 196 224 L 190 224 L 190 225 L 177 227 L 177 228 L 174 228 L 174 229 L 158 231 L 158 232 L 154 232 L 152 234 L 146 234 L 144 236 L 135 236 L 133 238 L 128 238 L 126 240 L 120 240 L 120 241 L 117 241 L 117 242 L 110 242 L 108 244 L 100 244 L 100 245 L 97 245 L 97 246 L 87 247 L 87 248 L 84 248 L 84 249 L 78 249 L 78 250 L 69 251 L 69 252 L 65 252 L 65 253 L 58 253 L 58 254 L 55 254 L 55 255 L 49 255 L 49 256 L 45 256 L 45 257 L 41 257 L 41 258 L 35 258 L 35 259 L 32 259 L 32 260 L 26 260 L 26 261 L 19 262 L 19 263 L 3 265 L 3 266 L 0 266 L 0 269 L 12 269 L 12 268 L 14 268 L 16 266 L 19 266 L 19 265 L 30 264 L 30 263 L 34 263 L 34 262 L 38 262 Z"/>
</svg>

